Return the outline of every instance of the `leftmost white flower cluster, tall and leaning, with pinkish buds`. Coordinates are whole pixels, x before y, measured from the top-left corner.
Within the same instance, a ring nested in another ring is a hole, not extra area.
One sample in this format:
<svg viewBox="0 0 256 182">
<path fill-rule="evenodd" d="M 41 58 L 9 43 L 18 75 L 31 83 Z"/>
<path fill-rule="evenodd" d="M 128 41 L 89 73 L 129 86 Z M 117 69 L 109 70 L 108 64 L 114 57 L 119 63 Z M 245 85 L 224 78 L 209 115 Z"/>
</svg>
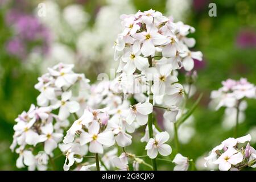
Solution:
<svg viewBox="0 0 256 182">
<path fill-rule="evenodd" d="M 40 91 L 38 105 L 31 105 L 15 119 L 14 139 L 11 150 L 19 154 L 18 168 L 47 169 L 48 159 L 63 138 L 64 128 L 69 126 L 68 117 L 80 110 L 78 97 L 72 97 L 76 85 L 86 92 L 89 80 L 83 74 L 72 71 L 71 64 L 57 64 L 39 77 L 35 88 Z M 43 151 L 40 151 L 43 150 Z"/>
</svg>

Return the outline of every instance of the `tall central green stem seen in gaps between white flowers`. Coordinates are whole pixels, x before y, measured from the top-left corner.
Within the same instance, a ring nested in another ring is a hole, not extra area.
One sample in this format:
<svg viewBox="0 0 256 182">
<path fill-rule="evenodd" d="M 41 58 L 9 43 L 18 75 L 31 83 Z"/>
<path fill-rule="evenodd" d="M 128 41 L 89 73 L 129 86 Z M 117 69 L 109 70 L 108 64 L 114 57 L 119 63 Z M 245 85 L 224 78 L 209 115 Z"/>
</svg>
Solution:
<svg viewBox="0 0 256 182">
<path fill-rule="evenodd" d="M 148 56 L 148 63 L 150 65 L 150 67 L 152 67 L 152 57 L 151 56 Z M 154 83 L 153 81 L 150 81 L 150 86 L 152 86 Z M 149 101 L 150 101 L 150 104 L 153 105 L 153 94 L 151 92 L 151 89 L 150 89 L 150 94 L 149 94 Z M 148 134 L 149 134 L 149 137 L 150 138 L 154 138 L 153 136 L 153 117 L 152 117 L 152 114 L 153 113 L 150 113 L 148 115 L 148 121 L 147 121 L 147 126 L 148 126 Z M 154 171 L 157 171 L 157 166 L 156 166 L 156 159 L 151 159 L 152 161 L 152 166 L 153 166 L 153 170 Z"/>
</svg>

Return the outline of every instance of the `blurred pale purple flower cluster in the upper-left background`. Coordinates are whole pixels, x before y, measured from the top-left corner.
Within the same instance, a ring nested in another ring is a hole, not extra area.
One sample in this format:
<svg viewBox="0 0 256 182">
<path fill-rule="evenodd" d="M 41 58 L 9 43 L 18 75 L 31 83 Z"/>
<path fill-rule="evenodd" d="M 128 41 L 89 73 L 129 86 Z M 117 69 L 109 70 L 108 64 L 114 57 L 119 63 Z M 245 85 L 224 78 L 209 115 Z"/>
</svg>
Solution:
<svg viewBox="0 0 256 182">
<path fill-rule="evenodd" d="M 43 55 L 48 52 L 49 31 L 35 16 L 13 9 L 6 14 L 5 20 L 15 32 L 6 47 L 10 54 L 24 59 L 30 51 L 36 50 Z"/>
</svg>

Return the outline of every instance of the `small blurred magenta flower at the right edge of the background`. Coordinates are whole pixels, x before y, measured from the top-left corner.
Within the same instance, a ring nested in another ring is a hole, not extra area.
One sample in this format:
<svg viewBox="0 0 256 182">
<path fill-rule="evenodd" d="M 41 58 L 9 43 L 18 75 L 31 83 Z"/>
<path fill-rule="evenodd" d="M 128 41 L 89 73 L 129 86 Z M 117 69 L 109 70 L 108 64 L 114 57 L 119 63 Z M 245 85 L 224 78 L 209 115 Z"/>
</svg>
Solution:
<svg viewBox="0 0 256 182">
<path fill-rule="evenodd" d="M 253 30 L 242 30 L 237 35 L 237 46 L 240 48 L 256 47 L 256 32 Z"/>
</svg>

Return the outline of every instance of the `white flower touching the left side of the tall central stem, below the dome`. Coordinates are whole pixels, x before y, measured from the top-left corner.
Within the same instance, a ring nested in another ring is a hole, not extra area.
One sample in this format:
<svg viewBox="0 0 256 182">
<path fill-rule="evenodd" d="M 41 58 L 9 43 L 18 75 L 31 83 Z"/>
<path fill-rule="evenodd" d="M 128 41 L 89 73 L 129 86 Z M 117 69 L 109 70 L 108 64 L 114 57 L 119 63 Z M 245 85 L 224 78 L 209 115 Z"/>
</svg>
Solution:
<svg viewBox="0 0 256 182">
<path fill-rule="evenodd" d="M 136 119 L 139 125 L 146 125 L 148 114 L 152 113 L 153 106 L 149 102 L 144 102 L 141 104 L 139 102 L 136 105 L 130 107 L 129 114 L 127 115 L 126 121 L 127 123 L 133 123 L 134 119 Z"/>
</svg>

